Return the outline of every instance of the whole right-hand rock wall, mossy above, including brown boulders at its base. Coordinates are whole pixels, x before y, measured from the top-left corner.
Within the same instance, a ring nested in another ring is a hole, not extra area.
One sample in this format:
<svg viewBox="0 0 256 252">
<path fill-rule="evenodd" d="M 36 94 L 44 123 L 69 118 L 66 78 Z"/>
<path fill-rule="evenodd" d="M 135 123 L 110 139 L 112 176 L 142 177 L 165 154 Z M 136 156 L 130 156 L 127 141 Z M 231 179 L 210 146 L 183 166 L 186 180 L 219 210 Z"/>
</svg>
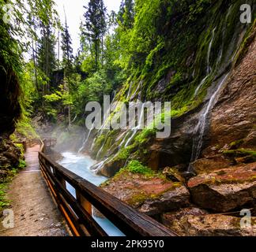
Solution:
<svg viewBox="0 0 256 252">
<path fill-rule="evenodd" d="M 167 26 L 173 37 L 167 35 L 161 58 L 166 69 L 160 71 L 156 62 L 151 75 L 131 78 L 116 96 L 125 102 L 171 99 L 168 139 L 156 139 L 149 130 L 122 130 L 94 132 L 91 141 L 99 160 L 95 169 L 114 176 L 104 189 L 141 212 L 161 216 L 182 235 L 255 233 L 238 228 L 239 216 L 230 213 L 254 208 L 256 201 L 256 26 L 239 22 L 242 3 L 213 1 L 192 23 L 175 20 Z M 180 50 L 175 43 L 182 39 L 186 46 Z M 134 159 L 158 172 L 158 179 L 133 172 L 115 176 Z"/>
</svg>

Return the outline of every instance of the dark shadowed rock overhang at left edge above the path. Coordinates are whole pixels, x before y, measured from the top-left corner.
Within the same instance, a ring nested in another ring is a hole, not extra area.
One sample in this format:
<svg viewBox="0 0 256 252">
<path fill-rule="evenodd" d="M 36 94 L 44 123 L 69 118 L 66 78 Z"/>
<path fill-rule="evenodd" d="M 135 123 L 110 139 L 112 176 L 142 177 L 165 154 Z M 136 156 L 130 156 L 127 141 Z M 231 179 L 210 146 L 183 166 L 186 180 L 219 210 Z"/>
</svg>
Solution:
<svg viewBox="0 0 256 252">
<path fill-rule="evenodd" d="M 3 26 L 6 24 L 2 24 L 2 19 L 0 22 L 0 28 L 3 31 Z M 9 170 L 19 164 L 21 156 L 21 151 L 9 140 L 9 135 L 15 130 L 16 121 L 21 117 L 19 102 L 21 89 L 12 65 L 16 62 L 10 63 L 5 55 L 6 53 L 13 57 L 13 53 L 7 53 L 10 50 L 9 43 L 11 43 L 7 31 L 6 36 L 1 38 L 2 51 L 0 53 L 0 183 L 6 178 Z"/>
</svg>

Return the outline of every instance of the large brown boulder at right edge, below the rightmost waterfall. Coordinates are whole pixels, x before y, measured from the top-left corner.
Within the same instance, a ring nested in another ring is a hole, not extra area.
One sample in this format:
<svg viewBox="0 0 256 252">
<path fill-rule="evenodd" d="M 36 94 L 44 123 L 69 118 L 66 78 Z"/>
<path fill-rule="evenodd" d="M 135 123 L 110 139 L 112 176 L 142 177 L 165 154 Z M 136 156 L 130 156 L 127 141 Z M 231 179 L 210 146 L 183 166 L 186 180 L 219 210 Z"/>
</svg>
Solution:
<svg viewBox="0 0 256 252">
<path fill-rule="evenodd" d="M 224 213 L 256 199 L 256 163 L 201 173 L 188 181 L 192 201 L 204 208 Z"/>
</svg>

